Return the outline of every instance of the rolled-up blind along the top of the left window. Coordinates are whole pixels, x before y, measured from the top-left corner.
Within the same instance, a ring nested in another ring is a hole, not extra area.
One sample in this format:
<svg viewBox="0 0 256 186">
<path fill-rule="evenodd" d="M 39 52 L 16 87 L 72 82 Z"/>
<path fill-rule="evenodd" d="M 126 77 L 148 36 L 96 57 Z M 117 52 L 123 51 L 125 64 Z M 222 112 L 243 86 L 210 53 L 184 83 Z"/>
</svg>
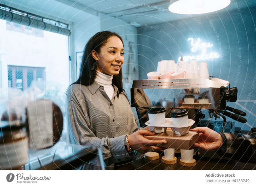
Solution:
<svg viewBox="0 0 256 186">
<path fill-rule="evenodd" d="M 2 4 L 0 4 L 0 19 L 62 35 L 70 35 L 68 25 L 65 23 L 5 7 Z"/>
</svg>

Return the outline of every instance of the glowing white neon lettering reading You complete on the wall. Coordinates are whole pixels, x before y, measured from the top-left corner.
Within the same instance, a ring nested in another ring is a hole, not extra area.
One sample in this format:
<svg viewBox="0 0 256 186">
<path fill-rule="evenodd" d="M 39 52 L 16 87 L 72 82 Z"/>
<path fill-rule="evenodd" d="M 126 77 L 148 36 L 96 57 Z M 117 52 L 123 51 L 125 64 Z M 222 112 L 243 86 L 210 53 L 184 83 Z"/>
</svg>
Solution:
<svg viewBox="0 0 256 186">
<path fill-rule="evenodd" d="M 200 55 L 193 55 L 193 56 L 183 56 L 183 61 L 190 61 L 190 60 L 205 60 L 205 59 L 214 59 L 219 58 L 220 55 L 217 52 L 210 52 L 207 53 L 207 48 L 212 48 L 213 44 L 211 43 L 200 43 L 200 38 L 197 39 L 196 42 L 194 42 L 193 38 L 188 38 L 187 41 L 191 41 L 191 52 L 196 52 L 198 50 L 201 50 Z M 180 61 L 181 57 L 179 57 L 178 61 Z"/>
</svg>

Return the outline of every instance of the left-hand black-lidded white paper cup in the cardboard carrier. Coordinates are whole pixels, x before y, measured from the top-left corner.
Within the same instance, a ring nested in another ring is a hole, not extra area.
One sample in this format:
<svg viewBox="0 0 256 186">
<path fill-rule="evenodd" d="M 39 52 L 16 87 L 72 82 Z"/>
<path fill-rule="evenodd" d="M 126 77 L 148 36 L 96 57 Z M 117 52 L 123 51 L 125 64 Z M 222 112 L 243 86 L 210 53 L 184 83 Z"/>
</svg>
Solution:
<svg viewBox="0 0 256 186">
<path fill-rule="evenodd" d="M 153 106 L 148 109 L 149 123 L 154 125 L 160 125 L 165 123 L 165 111 L 162 106 Z"/>
</svg>

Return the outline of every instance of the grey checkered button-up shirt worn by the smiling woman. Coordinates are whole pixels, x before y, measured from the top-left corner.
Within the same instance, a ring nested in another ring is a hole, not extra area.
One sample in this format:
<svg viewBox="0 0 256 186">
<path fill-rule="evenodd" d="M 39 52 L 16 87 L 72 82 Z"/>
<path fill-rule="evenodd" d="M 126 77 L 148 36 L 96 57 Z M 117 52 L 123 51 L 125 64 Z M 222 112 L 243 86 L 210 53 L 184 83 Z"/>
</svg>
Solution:
<svg viewBox="0 0 256 186">
<path fill-rule="evenodd" d="M 114 162 L 131 158 L 125 150 L 124 138 L 138 130 L 129 100 L 123 92 L 117 98 L 118 88 L 113 87 L 111 100 L 104 87 L 95 81 L 88 86 L 73 84 L 67 90 L 69 142 L 101 148 L 106 170 L 112 170 Z M 99 156 L 78 169 L 100 169 Z"/>
</svg>

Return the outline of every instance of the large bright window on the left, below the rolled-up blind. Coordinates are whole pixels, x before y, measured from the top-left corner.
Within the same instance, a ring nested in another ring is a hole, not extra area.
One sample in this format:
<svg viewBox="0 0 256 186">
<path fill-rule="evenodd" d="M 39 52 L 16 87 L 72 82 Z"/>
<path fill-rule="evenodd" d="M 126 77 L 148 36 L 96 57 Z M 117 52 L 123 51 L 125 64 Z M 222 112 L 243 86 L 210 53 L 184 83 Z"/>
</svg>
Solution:
<svg viewBox="0 0 256 186">
<path fill-rule="evenodd" d="M 3 19 L 0 33 L 0 88 L 26 91 L 34 80 L 44 81 L 45 94 L 64 112 L 69 86 L 68 36 Z M 65 132 L 64 118 L 62 137 Z"/>
</svg>

